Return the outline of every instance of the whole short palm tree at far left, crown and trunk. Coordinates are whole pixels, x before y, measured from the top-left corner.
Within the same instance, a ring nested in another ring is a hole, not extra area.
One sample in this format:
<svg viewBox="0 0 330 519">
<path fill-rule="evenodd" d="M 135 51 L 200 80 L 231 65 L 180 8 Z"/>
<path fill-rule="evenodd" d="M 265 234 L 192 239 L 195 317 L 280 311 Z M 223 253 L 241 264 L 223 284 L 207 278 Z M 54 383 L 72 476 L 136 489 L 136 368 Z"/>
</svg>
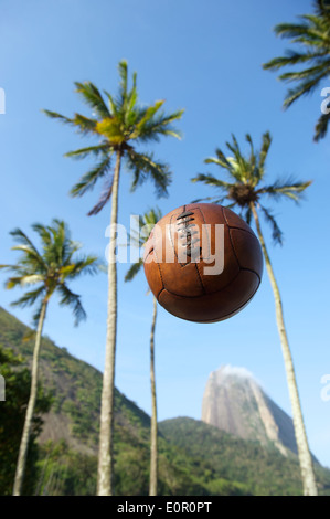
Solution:
<svg viewBox="0 0 330 519">
<path fill-rule="evenodd" d="M 55 219 L 52 225 L 49 226 L 36 223 L 32 225 L 32 229 L 41 239 L 42 252 L 38 251 L 36 246 L 21 229 L 15 229 L 10 233 L 18 243 L 12 250 L 19 251 L 22 254 L 14 265 L 0 265 L 0 268 L 12 272 L 12 275 L 7 280 L 7 288 L 11 289 L 18 286 L 24 288 L 28 285 L 38 285 L 35 289 L 25 292 L 22 297 L 12 303 L 13 306 L 23 308 L 38 304 L 33 315 L 36 332 L 32 359 L 31 391 L 13 485 L 14 496 L 19 496 L 22 490 L 38 393 L 41 337 L 49 301 L 52 295 L 57 293 L 60 305 L 72 308 L 75 325 L 77 325 L 82 319 L 86 318 L 86 313 L 81 303 L 81 296 L 73 293 L 67 284 L 76 279 L 81 274 L 95 274 L 99 267 L 95 256 L 77 256 L 81 244 L 71 240 L 68 227 L 63 221 Z"/>
</svg>

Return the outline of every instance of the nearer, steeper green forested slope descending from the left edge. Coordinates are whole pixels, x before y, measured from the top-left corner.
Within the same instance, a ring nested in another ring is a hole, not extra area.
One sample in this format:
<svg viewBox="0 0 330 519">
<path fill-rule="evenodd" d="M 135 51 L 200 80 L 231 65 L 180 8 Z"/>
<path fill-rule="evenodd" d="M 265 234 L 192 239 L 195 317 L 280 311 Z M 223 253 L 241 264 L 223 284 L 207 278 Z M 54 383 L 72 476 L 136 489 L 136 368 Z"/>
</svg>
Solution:
<svg viewBox="0 0 330 519">
<path fill-rule="evenodd" d="M 31 330 L 0 308 L 0 346 L 11 348 L 29 363 Z M 52 409 L 43 416 L 39 441 L 39 474 L 34 494 L 94 495 L 102 373 L 44 338 L 41 382 L 53 394 Z M 0 402 L 0 406 L 2 402 Z M 115 399 L 116 494 L 148 495 L 150 417 L 119 391 Z M 160 437 L 160 484 L 163 495 L 209 495 L 205 464 L 196 463 Z M 29 485 L 31 488 L 31 485 Z M 239 492 L 228 483 L 226 492 Z"/>
</svg>

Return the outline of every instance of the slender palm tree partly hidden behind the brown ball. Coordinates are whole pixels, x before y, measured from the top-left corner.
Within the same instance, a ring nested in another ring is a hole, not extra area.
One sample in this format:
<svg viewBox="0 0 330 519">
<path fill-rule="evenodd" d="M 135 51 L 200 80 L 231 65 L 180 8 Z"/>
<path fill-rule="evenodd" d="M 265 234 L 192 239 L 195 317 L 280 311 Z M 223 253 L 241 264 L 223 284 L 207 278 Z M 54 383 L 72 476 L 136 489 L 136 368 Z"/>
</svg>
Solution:
<svg viewBox="0 0 330 519">
<path fill-rule="evenodd" d="M 130 236 L 135 245 L 142 247 L 157 222 L 161 219 L 159 209 L 151 209 L 139 218 L 139 231 Z M 134 263 L 125 276 L 126 282 L 135 278 L 143 265 L 142 258 Z M 153 297 L 153 313 L 150 332 L 150 383 L 151 383 L 151 432 L 150 432 L 150 483 L 149 496 L 157 496 L 158 481 L 158 446 L 157 446 L 157 398 L 156 398 L 156 377 L 155 377 L 155 329 L 157 319 L 157 299 Z"/>
</svg>

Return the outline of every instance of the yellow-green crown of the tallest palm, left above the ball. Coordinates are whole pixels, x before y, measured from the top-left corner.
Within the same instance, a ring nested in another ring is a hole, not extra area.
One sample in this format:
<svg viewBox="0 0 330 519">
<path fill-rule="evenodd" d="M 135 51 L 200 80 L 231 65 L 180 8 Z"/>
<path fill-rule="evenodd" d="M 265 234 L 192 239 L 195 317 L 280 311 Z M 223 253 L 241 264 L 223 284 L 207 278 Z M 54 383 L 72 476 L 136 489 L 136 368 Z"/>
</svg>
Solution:
<svg viewBox="0 0 330 519">
<path fill-rule="evenodd" d="M 119 75 L 118 95 L 114 98 L 105 91 L 104 96 L 107 102 L 93 83 L 75 83 L 76 92 L 93 110 L 94 117 L 92 118 L 81 114 L 68 118 L 55 112 L 44 110 L 50 117 L 58 118 L 74 126 L 78 133 L 95 136 L 99 140 L 95 146 L 66 153 L 67 157 L 73 158 L 85 158 L 92 155 L 98 159 L 97 165 L 86 172 L 71 190 L 73 197 L 81 197 L 93 189 L 98 179 L 105 181 L 102 195 L 88 214 L 98 213 L 110 199 L 113 178 L 108 173 L 114 153 L 119 153 L 125 159 L 128 170 L 132 173 L 132 190 L 147 178 L 151 178 L 157 194 L 164 195 L 170 183 L 169 166 L 155 160 L 152 153 L 139 152 L 137 146 L 147 141 L 157 141 L 162 135 L 180 138 L 172 123 L 182 116 L 183 110 L 166 115 L 161 112 L 164 100 L 158 100 L 146 107 L 140 106 L 137 74 L 132 75 L 132 86 L 129 89 L 125 61 L 119 63 Z"/>
</svg>

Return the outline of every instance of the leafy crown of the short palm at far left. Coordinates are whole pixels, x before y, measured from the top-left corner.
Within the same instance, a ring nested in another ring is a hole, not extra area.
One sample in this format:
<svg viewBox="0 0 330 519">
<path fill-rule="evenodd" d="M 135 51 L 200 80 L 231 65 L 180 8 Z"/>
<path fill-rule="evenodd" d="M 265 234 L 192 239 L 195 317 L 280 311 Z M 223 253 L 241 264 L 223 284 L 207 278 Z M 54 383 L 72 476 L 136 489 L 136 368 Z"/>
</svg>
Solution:
<svg viewBox="0 0 330 519">
<path fill-rule="evenodd" d="M 83 273 L 95 274 L 99 268 L 97 258 L 92 255 L 76 255 L 81 244 L 71 240 L 70 231 L 63 221 L 53 220 L 52 225 L 49 226 L 36 223 L 32 225 L 32 229 L 41 239 L 42 252 L 38 251 L 22 230 L 15 229 L 10 233 L 18 243 L 12 250 L 22 254 L 17 264 L 0 265 L 1 268 L 12 272 L 6 283 L 7 288 L 39 285 L 35 289 L 25 292 L 12 305 L 26 307 L 39 301 L 33 316 L 34 324 L 36 324 L 42 303 L 49 300 L 57 292 L 60 305 L 67 305 L 73 309 L 77 325 L 81 319 L 85 319 L 86 314 L 81 296 L 68 288 L 68 282 Z"/>
</svg>

